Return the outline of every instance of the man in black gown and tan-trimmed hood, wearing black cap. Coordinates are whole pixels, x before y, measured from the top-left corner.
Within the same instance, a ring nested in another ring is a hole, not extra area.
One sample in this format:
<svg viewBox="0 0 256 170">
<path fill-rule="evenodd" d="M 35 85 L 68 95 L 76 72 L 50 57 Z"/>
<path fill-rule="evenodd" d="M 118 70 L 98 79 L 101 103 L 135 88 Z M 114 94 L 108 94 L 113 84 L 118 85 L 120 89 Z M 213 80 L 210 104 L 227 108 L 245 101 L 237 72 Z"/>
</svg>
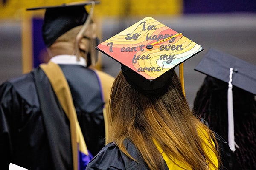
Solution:
<svg viewBox="0 0 256 170">
<path fill-rule="evenodd" d="M 95 3 L 29 9 L 46 9 L 42 34 L 52 58 L 0 86 L 0 169 L 12 163 L 84 170 L 104 147 L 114 78 L 91 67 L 97 61 Z"/>
</svg>

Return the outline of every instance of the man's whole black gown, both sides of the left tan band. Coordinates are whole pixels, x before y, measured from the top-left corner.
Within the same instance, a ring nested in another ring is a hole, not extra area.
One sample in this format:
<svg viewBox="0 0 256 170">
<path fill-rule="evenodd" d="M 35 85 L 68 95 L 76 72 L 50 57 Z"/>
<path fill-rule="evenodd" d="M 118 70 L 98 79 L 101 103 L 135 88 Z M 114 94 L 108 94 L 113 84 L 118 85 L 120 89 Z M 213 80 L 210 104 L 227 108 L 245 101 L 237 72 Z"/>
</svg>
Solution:
<svg viewBox="0 0 256 170">
<path fill-rule="evenodd" d="M 88 150 L 96 155 L 105 144 L 99 78 L 81 65 L 60 66 L 69 83 Z M 45 94 L 43 105 L 52 111 L 51 117 L 42 114 L 38 91 Z M 46 126 L 46 119 L 50 127 Z M 10 162 L 29 170 L 73 169 L 69 121 L 40 68 L 0 86 L 0 152 L 1 170 L 8 170 Z"/>
</svg>

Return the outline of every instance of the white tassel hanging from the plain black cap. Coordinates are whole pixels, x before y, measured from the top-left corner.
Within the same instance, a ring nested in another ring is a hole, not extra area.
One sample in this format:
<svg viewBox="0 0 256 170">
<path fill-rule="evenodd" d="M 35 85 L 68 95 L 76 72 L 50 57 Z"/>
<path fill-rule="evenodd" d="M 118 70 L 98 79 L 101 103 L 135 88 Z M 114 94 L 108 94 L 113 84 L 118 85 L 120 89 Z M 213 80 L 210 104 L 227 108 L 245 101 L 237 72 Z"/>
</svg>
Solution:
<svg viewBox="0 0 256 170">
<path fill-rule="evenodd" d="M 233 116 L 233 92 L 232 92 L 232 74 L 233 68 L 230 68 L 230 76 L 227 90 L 227 113 L 228 113 L 228 145 L 230 149 L 235 152 L 235 130 L 234 130 L 234 116 Z"/>
</svg>

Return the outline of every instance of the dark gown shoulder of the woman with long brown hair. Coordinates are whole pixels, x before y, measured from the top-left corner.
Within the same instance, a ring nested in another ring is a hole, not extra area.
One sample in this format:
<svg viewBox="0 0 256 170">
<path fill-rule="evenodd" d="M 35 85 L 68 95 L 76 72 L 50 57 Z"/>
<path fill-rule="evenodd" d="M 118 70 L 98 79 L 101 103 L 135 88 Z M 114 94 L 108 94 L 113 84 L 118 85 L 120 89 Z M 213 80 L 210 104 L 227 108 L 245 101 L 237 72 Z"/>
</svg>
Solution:
<svg viewBox="0 0 256 170">
<path fill-rule="evenodd" d="M 125 139 L 124 144 L 128 153 L 137 162 L 122 153 L 115 143 L 111 142 L 90 161 L 86 170 L 149 170 L 134 144 L 128 139 Z M 164 165 L 164 170 L 168 170 L 167 164 Z"/>
</svg>

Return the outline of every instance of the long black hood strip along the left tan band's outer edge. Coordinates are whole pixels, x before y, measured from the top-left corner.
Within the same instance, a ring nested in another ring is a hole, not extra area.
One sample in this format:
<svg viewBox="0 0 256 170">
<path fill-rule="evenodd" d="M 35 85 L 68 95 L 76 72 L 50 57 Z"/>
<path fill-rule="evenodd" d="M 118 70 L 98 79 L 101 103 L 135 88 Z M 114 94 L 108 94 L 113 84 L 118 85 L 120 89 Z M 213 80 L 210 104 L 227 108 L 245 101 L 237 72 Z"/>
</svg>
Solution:
<svg viewBox="0 0 256 170">
<path fill-rule="evenodd" d="M 37 68 L 34 71 L 35 85 L 41 105 L 41 112 L 54 169 L 73 169 L 69 121 L 58 102 L 48 78 Z"/>
</svg>

